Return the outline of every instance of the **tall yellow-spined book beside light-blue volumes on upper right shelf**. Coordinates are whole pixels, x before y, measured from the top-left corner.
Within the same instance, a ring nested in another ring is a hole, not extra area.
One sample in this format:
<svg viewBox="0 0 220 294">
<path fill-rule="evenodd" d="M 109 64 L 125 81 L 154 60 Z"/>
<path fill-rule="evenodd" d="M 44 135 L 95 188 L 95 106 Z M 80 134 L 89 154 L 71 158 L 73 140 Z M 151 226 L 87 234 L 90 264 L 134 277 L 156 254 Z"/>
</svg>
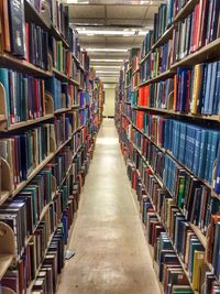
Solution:
<svg viewBox="0 0 220 294">
<path fill-rule="evenodd" d="M 201 87 L 201 64 L 197 64 L 195 66 L 195 75 L 194 75 L 194 90 L 191 98 L 191 113 L 197 113 L 197 106 L 199 104 L 199 91 Z"/>
</svg>

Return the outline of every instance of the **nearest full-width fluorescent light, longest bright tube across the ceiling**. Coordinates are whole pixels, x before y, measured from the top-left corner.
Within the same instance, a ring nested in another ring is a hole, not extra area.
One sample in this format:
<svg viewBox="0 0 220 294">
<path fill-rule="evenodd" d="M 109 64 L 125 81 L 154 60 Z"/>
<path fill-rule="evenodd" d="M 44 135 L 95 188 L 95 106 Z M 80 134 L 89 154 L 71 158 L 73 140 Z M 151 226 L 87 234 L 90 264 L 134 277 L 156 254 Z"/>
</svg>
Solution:
<svg viewBox="0 0 220 294">
<path fill-rule="evenodd" d="M 82 29 L 77 29 L 77 32 L 80 35 L 88 35 L 88 34 L 94 34 L 94 35 L 122 35 L 122 36 L 143 36 L 145 35 L 148 31 L 140 31 L 140 30 L 133 30 L 133 31 L 125 31 L 125 30 L 82 30 Z"/>
</svg>

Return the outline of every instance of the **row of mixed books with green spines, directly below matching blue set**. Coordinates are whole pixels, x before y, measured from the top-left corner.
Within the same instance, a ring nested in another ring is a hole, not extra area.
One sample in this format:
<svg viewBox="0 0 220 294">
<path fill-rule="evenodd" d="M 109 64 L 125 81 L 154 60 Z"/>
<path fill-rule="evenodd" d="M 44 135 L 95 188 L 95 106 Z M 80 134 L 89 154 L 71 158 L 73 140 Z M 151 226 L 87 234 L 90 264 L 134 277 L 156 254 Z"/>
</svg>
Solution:
<svg viewBox="0 0 220 294">
<path fill-rule="evenodd" d="M 144 174 L 145 187 L 150 188 L 152 186 L 151 179 L 155 181 L 154 176 L 156 175 L 166 187 L 165 194 L 167 196 L 172 195 L 186 219 L 198 226 L 201 232 L 206 235 L 210 224 L 210 215 L 216 214 L 220 206 L 218 198 L 211 197 L 210 188 L 191 176 L 169 155 L 164 154 L 135 129 L 131 130 L 130 138 L 138 148 L 138 151 L 132 148 L 130 155 L 138 164 L 136 167 L 140 173 Z M 147 165 L 152 170 L 147 168 Z M 156 184 L 158 185 L 157 181 Z"/>
</svg>

